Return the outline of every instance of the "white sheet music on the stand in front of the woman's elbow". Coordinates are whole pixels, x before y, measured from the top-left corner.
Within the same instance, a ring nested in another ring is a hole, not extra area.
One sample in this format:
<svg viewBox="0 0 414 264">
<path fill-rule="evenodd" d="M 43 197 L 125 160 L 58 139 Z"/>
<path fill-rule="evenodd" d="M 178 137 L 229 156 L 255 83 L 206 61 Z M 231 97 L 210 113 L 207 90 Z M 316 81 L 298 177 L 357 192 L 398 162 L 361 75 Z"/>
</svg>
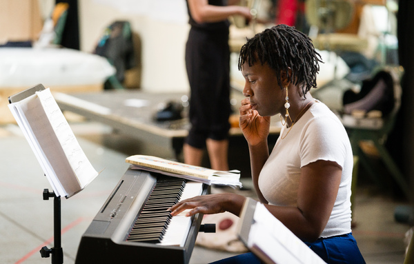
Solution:
<svg viewBox="0 0 414 264">
<path fill-rule="evenodd" d="M 237 226 L 240 240 L 266 264 L 326 264 L 262 203 L 247 198 Z"/>
</svg>

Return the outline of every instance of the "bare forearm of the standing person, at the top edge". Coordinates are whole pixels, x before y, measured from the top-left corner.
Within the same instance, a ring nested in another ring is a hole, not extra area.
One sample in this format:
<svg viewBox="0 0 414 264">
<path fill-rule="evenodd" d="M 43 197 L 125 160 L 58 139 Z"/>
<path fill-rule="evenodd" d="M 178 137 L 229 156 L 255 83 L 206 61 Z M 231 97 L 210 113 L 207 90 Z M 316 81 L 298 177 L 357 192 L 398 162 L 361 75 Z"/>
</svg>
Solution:
<svg viewBox="0 0 414 264">
<path fill-rule="evenodd" d="M 188 8 L 190 9 L 191 17 L 197 23 L 223 21 L 234 14 L 242 15 L 248 21 L 252 18 L 250 10 L 246 7 L 213 6 L 208 4 L 208 0 L 188 0 Z"/>
</svg>

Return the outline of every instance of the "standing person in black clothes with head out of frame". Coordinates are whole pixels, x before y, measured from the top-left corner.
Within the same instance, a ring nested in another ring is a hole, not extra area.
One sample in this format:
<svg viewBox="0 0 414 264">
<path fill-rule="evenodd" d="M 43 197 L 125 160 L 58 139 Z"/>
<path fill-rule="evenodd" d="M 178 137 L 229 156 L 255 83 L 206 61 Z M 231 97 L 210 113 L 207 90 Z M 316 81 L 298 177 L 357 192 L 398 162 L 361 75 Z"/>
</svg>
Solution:
<svg viewBox="0 0 414 264">
<path fill-rule="evenodd" d="M 191 26 L 186 43 L 191 128 L 184 143 L 184 162 L 200 166 L 206 147 L 213 170 L 228 170 L 228 17 L 241 15 L 250 21 L 250 9 L 233 6 L 238 0 L 186 1 Z"/>
</svg>

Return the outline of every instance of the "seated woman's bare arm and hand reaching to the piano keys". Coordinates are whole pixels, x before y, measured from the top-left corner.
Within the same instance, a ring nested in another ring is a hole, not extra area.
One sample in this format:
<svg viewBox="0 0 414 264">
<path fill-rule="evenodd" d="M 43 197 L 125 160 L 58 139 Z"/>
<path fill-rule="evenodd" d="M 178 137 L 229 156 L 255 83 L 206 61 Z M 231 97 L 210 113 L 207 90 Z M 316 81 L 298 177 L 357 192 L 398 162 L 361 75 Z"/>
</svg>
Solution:
<svg viewBox="0 0 414 264">
<path fill-rule="evenodd" d="M 265 205 L 273 216 L 303 241 L 315 241 L 328 223 L 341 181 L 342 168 L 333 161 L 315 161 L 302 167 L 297 206 Z M 193 214 L 231 212 L 239 216 L 246 197 L 210 194 L 186 199 L 172 206 L 172 216 L 190 209 Z"/>
</svg>

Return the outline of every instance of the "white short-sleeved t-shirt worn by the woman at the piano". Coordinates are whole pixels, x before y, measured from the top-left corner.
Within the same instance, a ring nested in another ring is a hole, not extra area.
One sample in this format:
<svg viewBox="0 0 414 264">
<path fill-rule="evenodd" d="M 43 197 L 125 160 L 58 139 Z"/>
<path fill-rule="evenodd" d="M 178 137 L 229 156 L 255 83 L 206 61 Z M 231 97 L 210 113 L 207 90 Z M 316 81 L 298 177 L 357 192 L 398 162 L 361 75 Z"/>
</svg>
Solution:
<svg viewBox="0 0 414 264">
<path fill-rule="evenodd" d="M 353 154 L 344 125 L 324 103 L 317 101 L 290 132 L 289 129 L 286 125 L 282 128 L 275 148 L 260 172 L 259 189 L 264 198 L 272 205 L 297 206 L 301 167 L 318 160 L 335 161 L 342 167 L 342 178 L 321 237 L 351 232 Z"/>
</svg>

